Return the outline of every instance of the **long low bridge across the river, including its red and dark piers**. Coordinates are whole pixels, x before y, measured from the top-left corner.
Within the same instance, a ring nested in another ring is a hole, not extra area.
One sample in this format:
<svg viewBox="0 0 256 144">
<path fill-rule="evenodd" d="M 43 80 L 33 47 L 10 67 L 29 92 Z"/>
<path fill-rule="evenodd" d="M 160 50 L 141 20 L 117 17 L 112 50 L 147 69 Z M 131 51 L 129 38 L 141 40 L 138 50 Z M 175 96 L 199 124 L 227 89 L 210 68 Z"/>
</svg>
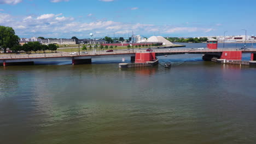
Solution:
<svg viewBox="0 0 256 144">
<path fill-rule="evenodd" d="M 143 53 L 143 54 L 139 54 Z M 60 61 L 71 60 L 72 64 L 90 64 L 94 58 L 113 58 L 113 57 L 131 57 L 131 62 L 143 63 L 150 61 L 157 56 L 165 55 L 181 55 L 181 54 L 202 54 L 205 61 L 210 61 L 211 58 L 223 58 L 227 60 L 241 61 L 242 53 L 251 53 L 251 61 L 256 61 L 255 49 L 146 49 L 136 50 L 118 50 L 113 52 L 97 51 L 89 52 L 88 54 L 69 53 L 33 53 L 33 54 L 7 54 L 0 55 L 0 63 L 7 65 L 30 65 L 34 61 Z"/>
</svg>

